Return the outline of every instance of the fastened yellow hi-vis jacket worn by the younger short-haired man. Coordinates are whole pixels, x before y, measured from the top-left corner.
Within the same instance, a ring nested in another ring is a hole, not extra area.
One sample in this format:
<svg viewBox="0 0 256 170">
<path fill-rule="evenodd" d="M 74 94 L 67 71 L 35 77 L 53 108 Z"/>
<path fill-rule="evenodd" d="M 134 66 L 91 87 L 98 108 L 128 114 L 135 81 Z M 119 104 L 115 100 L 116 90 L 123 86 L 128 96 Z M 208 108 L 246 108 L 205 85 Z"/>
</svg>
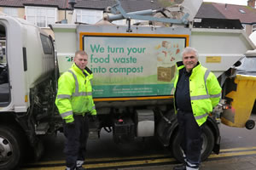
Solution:
<svg viewBox="0 0 256 170">
<path fill-rule="evenodd" d="M 84 73 L 87 74 L 86 77 Z M 91 115 L 96 115 L 90 82 L 93 74 L 87 67 L 84 73 L 73 64 L 59 78 L 55 105 L 66 122 L 73 122 L 73 114 L 84 116 L 84 113 L 90 112 Z"/>
</svg>

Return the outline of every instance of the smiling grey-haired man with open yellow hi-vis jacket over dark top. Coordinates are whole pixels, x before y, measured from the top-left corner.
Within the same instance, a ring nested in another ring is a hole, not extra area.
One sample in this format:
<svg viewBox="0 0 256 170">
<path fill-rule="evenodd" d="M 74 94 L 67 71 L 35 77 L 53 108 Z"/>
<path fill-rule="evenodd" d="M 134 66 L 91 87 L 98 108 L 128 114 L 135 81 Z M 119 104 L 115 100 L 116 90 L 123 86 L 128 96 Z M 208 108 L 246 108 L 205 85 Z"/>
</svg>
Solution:
<svg viewBox="0 0 256 170">
<path fill-rule="evenodd" d="M 218 105 L 221 88 L 217 78 L 198 61 L 195 48 L 184 48 L 177 62 L 175 113 L 185 164 L 174 170 L 198 170 L 201 163 L 201 133 L 212 108 Z"/>
</svg>

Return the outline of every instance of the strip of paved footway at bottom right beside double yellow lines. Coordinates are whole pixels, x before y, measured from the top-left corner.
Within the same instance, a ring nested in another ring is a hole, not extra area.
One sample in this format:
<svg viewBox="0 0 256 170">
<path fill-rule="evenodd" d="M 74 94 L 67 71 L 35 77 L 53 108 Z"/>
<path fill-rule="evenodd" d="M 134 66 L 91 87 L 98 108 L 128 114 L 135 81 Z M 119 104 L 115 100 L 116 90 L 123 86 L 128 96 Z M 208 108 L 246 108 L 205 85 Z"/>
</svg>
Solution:
<svg viewBox="0 0 256 170">
<path fill-rule="evenodd" d="M 178 164 L 118 168 L 118 170 L 172 170 Z M 203 161 L 200 170 L 256 170 L 256 156 L 224 158 L 223 160 Z"/>
</svg>

